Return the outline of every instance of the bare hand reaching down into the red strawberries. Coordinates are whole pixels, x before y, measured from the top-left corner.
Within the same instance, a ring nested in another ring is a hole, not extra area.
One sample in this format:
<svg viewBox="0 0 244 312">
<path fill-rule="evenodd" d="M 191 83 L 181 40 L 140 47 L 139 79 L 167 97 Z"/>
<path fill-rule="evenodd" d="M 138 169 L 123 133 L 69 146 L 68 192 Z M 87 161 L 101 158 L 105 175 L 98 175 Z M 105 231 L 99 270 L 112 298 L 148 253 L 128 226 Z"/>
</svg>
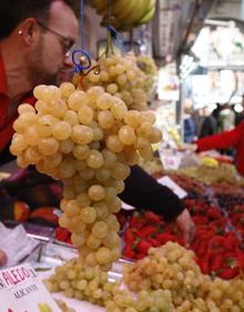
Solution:
<svg viewBox="0 0 244 312">
<path fill-rule="evenodd" d="M 185 246 L 187 248 L 195 236 L 195 224 L 193 223 L 187 209 L 183 210 L 183 212 L 176 218 L 176 223 L 183 232 Z"/>
</svg>

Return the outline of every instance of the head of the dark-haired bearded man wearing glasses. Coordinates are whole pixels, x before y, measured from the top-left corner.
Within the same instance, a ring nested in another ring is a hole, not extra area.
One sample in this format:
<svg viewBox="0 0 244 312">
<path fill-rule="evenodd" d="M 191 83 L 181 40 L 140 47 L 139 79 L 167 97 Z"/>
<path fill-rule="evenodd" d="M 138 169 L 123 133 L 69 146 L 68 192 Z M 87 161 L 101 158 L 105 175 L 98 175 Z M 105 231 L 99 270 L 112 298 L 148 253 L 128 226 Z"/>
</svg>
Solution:
<svg viewBox="0 0 244 312">
<path fill-rule="evenodd" d="M 0 20 L 1 46 L 23 61 L 31 87 L 53 83 L 71 67 L 67 52 L 77 40 L 78 20 L 68 0 L 0 1 Z"/>
</svg>

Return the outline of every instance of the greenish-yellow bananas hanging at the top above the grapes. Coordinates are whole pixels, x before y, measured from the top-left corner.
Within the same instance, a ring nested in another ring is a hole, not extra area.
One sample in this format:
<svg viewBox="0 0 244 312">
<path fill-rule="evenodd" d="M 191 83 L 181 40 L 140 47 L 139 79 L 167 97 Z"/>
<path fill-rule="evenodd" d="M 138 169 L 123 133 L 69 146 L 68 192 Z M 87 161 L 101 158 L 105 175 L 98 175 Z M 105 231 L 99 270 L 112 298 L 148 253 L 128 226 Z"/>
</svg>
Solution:
<svg viewBox="0 0 244 312">
<path fill-rule="evenodd" d="M 102 26 L 109 22 L 108 0 L 92 0 L 92 7 L 102 16 Z M 130 30 L 148 23 L 155 13 L 156 0 L 113 0 L 111 1 L 110 23 L 118 30 Z"/>
</svg>

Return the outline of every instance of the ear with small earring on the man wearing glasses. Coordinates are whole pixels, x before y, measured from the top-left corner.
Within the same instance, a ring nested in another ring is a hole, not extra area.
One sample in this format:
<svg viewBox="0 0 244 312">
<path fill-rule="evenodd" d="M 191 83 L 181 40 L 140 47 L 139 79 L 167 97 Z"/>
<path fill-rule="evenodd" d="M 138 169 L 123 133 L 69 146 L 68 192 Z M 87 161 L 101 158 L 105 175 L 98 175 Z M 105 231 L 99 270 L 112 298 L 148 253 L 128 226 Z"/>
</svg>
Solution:
<svg viewBox="0 0 244 312">
<path fill-rule="evenodd" d="M 27 44 L 33 43 L 40 30 L 34 18 L 28 18 L 21 22 L 18 34 L 22 37 Z"/>
</svg>

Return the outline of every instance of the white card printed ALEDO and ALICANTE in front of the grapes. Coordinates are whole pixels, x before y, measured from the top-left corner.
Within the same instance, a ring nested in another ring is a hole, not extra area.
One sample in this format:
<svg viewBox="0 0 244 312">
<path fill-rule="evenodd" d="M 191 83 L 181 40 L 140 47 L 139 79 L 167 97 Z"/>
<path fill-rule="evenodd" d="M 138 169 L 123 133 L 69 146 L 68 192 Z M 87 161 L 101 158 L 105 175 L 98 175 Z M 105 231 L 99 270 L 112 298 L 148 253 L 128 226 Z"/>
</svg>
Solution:
<svg viewBox="0 0 244 312">
<path fill-rule="evenodd" d="M 30 264 L 0 271 L 0 312 L 61 312 Z"/>
</svg>

